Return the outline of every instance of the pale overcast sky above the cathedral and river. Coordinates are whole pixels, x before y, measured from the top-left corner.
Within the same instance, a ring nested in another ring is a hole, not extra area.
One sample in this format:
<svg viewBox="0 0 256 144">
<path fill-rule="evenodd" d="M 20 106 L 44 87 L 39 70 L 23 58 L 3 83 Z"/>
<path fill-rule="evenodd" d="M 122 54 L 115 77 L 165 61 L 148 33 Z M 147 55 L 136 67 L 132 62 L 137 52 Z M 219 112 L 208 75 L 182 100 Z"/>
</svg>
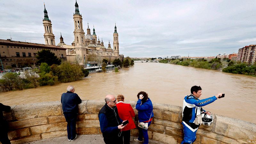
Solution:
<svg viewBox="0 0 256 144">
<path fill-rule="evenodd" d="M 44 3 L 56 45 L 74 41 L 75 0 L 0 0 L 0 39 L 45 44 Z M 119 52 L 130 57 L 216 56 L 256 44 L 255 0 L 77 0 L 84 31 L 105 47 L 116 22 Z"/>
</svg>

